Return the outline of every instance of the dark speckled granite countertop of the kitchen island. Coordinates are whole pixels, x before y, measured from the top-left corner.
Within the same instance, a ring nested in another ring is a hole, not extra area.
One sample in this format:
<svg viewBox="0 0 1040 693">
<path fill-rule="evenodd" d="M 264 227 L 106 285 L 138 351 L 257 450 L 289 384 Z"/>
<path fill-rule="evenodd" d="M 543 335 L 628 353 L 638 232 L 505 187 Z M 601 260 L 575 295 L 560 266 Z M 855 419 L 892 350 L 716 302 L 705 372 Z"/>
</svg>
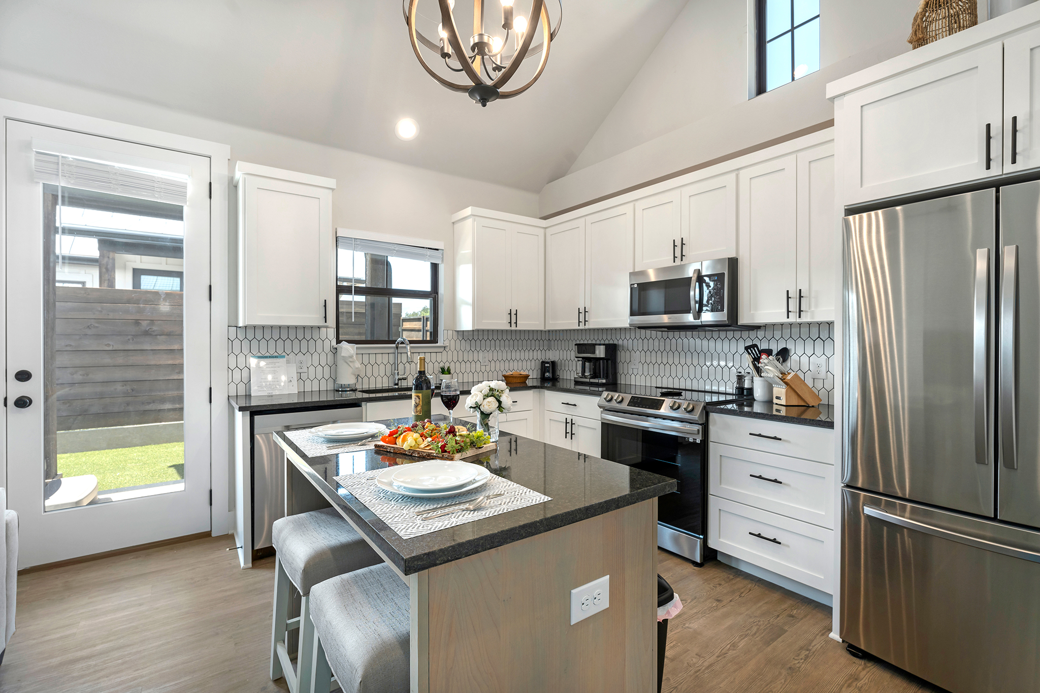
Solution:
<svg viewBox="0 0 1040 693">
<path fill-rule="evenodd" d="M 446 420 L 444 417 L 435 419 Z M 411 420 L 395 419 L 382 423 L 393 427 L 399 423 L 411 423 Z M 308 457 L 284 433 L 275 435 L 281 446 L 293 453 L 288 458 L 296 469 L 341 513 L 354 521 L 405 575 L 635 505 L 677 488 L 674 479 L 503 432 L 495 452 L 468 461 L 484 464 L 492 474 L 545 494 L 552 500 L 402 539 L 340 486 L 335 477 L 421 460 L 380 455 L 374 450 Z M 293 459 L 294 456 L 298 456 L 303 464 Z"/>
</svg>

